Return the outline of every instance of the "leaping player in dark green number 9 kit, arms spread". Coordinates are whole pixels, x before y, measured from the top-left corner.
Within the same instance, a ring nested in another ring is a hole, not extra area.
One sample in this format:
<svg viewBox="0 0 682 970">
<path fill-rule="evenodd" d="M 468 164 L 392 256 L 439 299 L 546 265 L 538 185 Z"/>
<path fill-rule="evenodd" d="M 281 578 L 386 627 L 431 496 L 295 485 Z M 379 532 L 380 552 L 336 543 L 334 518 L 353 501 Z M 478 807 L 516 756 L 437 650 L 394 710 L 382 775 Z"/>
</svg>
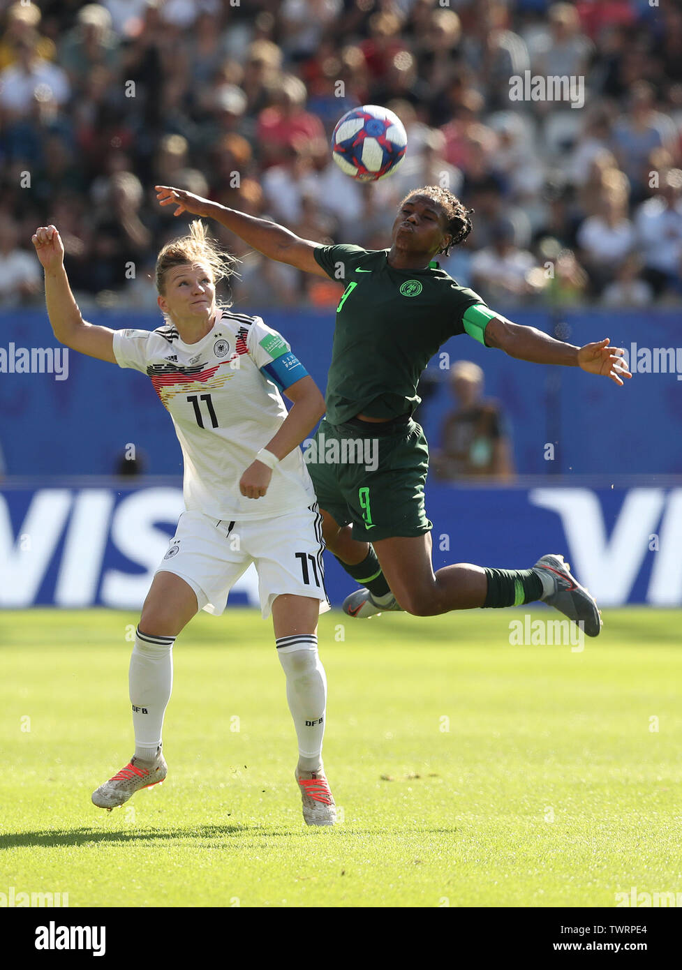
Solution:
<svg viewBox="0 0 682 970">
<path fill-rule="evenodd" d="M 459 563 L 434 572 L 432 523 L 424 510 L 429 451 L 411 414 L 420 400 L 421 372 L 438 347 L 458 334 L 510 357 L 580 367 L 618 385 L 632 376 L 623 350 L 610 347 L 608 338 L 576 347 L 512 323 L 440 270 L 434 257 L 471 232 L 470 211 L 447 189 L 431 185 L 410 192 L 396 215 L 390 249 L 379 250 L 310 242 L 181 189 L 157 185 L 156 191 L 160 205 L 175 205 L 176 215 L 216 219 L 264 255 L 346 284 L 337 307 L 327 414 L 316 438 L 319 454 L 309 463 L 327 547 L 365 584 L 344 601 L 346 613 L 364 617 L 403 609 L 435 616 L 541 599 L 597 636 L 597 603 L 562 556 L 542 556 L 529 569 Z M 353 439 L 378 442 L 373 470 L 352 455 L 347 460 Z M 330 448 L 334 441 L 339 448 Z M 346 461 L 329 461 L 335 450 Z"/>
</svg>

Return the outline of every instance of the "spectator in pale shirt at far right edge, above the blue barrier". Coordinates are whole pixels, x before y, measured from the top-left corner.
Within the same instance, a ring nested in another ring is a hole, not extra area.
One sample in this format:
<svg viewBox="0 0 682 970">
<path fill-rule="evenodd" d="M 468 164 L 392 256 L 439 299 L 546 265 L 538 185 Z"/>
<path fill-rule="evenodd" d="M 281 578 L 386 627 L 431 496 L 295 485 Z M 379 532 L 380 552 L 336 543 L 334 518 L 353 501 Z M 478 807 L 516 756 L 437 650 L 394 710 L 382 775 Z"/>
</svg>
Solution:
<svg viewBox="0 0 682 970">
<path fill-rule="evenodd" d="M 657 297 L 666 289 L 682 291 L 682 170 L 661 175 L 661 191 L 642 203 L 634 218 L 643 276 Z"/>
</svg>

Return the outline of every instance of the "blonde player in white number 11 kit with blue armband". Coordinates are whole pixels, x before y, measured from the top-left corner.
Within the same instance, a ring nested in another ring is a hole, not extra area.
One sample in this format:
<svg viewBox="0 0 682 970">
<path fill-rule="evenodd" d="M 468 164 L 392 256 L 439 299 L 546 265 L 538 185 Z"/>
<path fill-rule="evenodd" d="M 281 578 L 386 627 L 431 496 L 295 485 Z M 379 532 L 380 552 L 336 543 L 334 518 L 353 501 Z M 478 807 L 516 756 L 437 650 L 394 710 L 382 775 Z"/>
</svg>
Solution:
<svg viewBox="0 0 682 970">
<path fill-rule="evenodd" d="M 254 563 L 262 615 L 272 612 L 286 675 L 304 819 L 334 824 L 322 763 L 327 682 L 317 653 L 317 618 L 329 609 L 322 519 L 298 447 L 324 413 L 322 395 L 288 343 L 260 317 L 216 304 L 215 283 L 231 268 L 200 221 L 158 255 L 156 288 L 166 323 L 154 331 L 84 322 L 59 233 L 42 226 L 33 243 L 56 339 L 146 373 L 171 414 L 184 463 L 186 511 L 154 575 L 130 662 L 135 755 L 92 801 L 111 811 L 166 777 L 161 728 L 176 637 L 198 610 L 220 615 L 229 590 Z M 288 414 L 279 391 L 293 402 Z"/>
</svg>

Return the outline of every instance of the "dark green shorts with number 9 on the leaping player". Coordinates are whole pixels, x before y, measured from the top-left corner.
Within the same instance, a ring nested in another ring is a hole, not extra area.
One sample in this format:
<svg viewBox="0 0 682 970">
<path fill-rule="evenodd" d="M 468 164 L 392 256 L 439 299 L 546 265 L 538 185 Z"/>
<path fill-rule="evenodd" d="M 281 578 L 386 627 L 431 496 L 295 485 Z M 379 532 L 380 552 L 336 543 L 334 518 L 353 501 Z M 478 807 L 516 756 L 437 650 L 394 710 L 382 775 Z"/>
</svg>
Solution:
<svg viewBox="0 0 682 970">
<path fill-rule="evenodd" d="M 433 528 L 424 510 L 429 446 L 411 418 L 343 425 L 325 418 L 304 458 L 320 508 L 340 526 L 352 522 L 353 538 L 373 542 Z"/>
</svg>

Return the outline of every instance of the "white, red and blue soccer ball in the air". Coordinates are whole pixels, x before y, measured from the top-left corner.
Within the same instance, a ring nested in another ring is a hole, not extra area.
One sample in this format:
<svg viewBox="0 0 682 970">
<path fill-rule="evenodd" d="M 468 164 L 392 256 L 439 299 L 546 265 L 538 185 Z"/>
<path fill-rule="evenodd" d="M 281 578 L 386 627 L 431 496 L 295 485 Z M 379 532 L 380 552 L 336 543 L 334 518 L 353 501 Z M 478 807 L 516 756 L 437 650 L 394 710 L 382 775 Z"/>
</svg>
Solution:
<svg viewBox="0 0 682 970">
<path fill-rule="evenodd" d="M 346 112 L 332 135 L 332 157 L 341 172 L 358 181 L 376 181 L 397 171 L 407 136 L 397 114 L 376 105 Z"/>
</svg>

